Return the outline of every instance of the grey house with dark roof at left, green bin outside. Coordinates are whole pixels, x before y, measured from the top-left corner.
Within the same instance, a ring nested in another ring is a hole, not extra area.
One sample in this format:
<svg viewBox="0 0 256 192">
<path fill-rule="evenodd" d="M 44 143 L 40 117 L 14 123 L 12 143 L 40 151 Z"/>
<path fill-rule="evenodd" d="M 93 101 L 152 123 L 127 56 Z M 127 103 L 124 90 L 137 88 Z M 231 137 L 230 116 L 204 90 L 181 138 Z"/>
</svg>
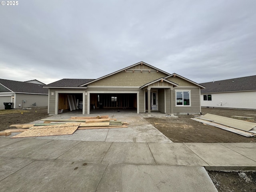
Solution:
<svg viewBox="0 0 256 192">
<path fill-rule="evenodd" d="M 44 85 L 0 79 L 0 109 L 4 109 L 4 102 L 12 102 L 12 108 L 47 107 L 48 91 Z"/>
</svg>

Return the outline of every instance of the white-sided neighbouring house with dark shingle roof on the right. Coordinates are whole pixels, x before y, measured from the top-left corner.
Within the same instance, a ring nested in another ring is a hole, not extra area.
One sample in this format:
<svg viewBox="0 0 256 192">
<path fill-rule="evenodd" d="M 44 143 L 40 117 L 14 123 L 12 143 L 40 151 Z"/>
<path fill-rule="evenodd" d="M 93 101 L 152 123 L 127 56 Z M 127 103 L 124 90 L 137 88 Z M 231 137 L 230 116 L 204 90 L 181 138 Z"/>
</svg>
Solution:
<svg viewBox="0 0 256 192">
<path fill-rule="evenodd" d="M 201 83 L 202 107 L 256 110 L 256 75 Z"/>
</svg>

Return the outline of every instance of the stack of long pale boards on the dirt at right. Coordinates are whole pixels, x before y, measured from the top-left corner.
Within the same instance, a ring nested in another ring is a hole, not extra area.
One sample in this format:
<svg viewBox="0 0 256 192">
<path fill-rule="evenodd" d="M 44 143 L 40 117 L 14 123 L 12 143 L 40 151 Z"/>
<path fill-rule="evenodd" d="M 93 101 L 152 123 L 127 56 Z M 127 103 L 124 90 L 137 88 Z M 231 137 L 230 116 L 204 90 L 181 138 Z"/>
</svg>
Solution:
<svg viewBox="0 0 256 192">
<path fill-rule="evenodd" d="M 192 120 L 211 125 L 223 130 L 227 130 L 229 132 L 233 132 L 245 137 L 253 137 L 256 135 L 256 123 L 246 122 L 243 120 L 213 115 L 213 114 L 205 114 L 203 116 L 194 115 Z"/>
</svg>

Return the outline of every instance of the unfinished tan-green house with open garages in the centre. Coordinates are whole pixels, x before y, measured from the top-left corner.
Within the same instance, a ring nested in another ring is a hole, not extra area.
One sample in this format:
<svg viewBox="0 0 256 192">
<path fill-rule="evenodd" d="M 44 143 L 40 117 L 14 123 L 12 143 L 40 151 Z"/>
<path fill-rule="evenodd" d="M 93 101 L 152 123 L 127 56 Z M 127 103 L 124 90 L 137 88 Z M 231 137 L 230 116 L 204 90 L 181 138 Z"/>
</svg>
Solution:
<svg viewBox="0 0 256 192">
<path fill-rule="evenodd" d="M 82 114 L 101 108 L 135 109 L 136 113 L 200 114 L 204 86 L 139 62 L 98 79 L 62 79 L 48 88 L 48 114 L 69 108 L 68 95 L 82 105 Z"/>
</svg>

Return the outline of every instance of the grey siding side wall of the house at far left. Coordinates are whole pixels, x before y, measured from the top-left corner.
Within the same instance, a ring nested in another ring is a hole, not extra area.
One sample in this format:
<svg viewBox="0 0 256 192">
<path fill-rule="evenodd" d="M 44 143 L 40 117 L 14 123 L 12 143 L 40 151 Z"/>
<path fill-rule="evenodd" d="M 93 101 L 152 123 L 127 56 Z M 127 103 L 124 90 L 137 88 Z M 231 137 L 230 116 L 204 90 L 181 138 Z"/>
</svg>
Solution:
<svg viewBox="0 0 256 192">
<path fill-rule="evenodd" d="M 14 108 L 16 109 L 22 108 L 22 106 L 23 108 L 47 107 L 48 95 L 16 93 L 14 100 Z M 23 103 L 23 100 L 26 100 L 26 103 Z M 34 103 L 36 103 L 36 106 L 33 105 Z"/>
</svg>

